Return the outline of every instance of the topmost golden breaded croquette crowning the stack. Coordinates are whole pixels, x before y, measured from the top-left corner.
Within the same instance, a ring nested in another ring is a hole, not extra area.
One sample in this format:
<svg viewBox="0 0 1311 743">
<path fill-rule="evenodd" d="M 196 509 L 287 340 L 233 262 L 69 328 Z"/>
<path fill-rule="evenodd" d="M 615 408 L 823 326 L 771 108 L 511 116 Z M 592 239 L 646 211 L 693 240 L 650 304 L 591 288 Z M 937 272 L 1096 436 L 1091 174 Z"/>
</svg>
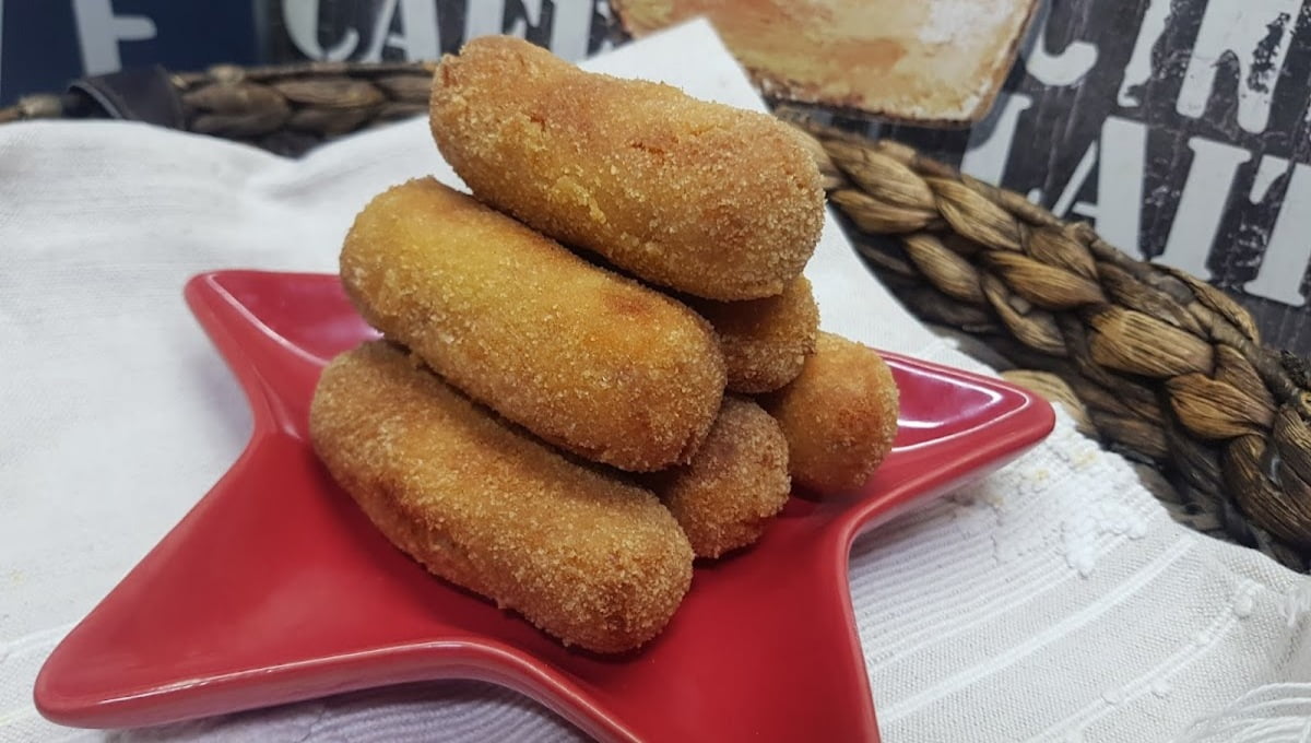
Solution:
<svg viewBox="0 0 1311 743">
<path fill-rule="evenodd" d="M 676 291 L 776 295 L 819 238 L 819 172 L 787 124 L 526 41 L 443 58 L 430 122 L 480 200 Z"/>
</svg>

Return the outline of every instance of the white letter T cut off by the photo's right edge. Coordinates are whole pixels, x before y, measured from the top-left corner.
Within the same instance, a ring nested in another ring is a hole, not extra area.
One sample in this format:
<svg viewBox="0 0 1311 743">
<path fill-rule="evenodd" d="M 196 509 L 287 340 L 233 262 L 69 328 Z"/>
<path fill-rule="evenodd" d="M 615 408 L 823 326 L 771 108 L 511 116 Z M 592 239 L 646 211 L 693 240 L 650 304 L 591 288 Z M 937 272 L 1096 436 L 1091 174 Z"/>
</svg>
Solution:
<svg viewBox="0 0 1311 743">
<path fill-rule="evenodd" d="M 1268 155 L 1261 160 L 1262 169 L 1266 161 L 1287 166 L 1287 160 Z M 1301 290 L 1308 265 L 1311 265 L 1311 166 L 1297 162 L 1289 177 L 1289 189 L 1283 194 L 1280 216 L 1274 220 L 1274 229 L 1261 256 L 1261 270 L 1255 279 L 1243 284 L 1243 288 L 1248 294 L 1302 307 L 1307 301 Z"/>
</svg>

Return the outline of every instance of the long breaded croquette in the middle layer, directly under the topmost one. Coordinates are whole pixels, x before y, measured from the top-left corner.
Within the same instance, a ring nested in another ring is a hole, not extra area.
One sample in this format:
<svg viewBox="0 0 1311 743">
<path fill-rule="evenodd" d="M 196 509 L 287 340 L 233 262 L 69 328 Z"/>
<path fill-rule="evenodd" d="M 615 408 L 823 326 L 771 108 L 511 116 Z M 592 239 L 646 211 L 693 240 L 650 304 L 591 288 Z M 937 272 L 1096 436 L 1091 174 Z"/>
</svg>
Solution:
<svg viewBox="0 0 1311 743">
<path fill-rule="evenodd" d="M 686 463 L 718 411 L 724 359 L 705 320 L 431 178 L 364 207 L 341 276 L 384 335 L 582 457 Z"/>
</svg>

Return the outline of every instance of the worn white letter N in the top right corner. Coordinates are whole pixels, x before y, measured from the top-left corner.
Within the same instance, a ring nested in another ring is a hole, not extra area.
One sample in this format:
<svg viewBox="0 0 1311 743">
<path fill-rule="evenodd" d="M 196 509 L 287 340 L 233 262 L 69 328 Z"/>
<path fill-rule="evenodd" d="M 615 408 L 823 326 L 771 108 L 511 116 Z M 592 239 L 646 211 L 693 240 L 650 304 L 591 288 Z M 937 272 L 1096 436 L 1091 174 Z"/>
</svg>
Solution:
<svg viewBox="0 0 1311 743">
<path fill-rule="evenodd" d="M 1265 131 L 1301 8 L 1302 0 L 1209 0 L 1175 110 L 1201 117 L 1215 86 L 1215 68 L 1230 58 L 1239 67 L 1238 124 Z"/>
</svg>

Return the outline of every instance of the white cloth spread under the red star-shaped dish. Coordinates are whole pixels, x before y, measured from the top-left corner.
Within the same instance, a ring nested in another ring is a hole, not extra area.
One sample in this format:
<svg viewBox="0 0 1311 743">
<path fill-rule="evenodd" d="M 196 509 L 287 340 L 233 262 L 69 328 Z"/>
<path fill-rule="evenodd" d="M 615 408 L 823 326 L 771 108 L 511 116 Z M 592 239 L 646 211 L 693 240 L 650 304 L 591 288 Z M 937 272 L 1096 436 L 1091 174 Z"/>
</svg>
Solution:
<svg viewBox="0 0 1311 743">
<path fill-rule="evenodd" d="M 589 63 L 760 109 L 705 24 Z M 245 402 L 182 303 L 202 270 L 332 271 L 374 194 L 435 173 L 423 121 L 294 161 L 131 123 L 0 127 L 0 739 L 100 739 L 31 705 L 42 660 L 223 474 Z M 830 224 L 823 325 L 979 368 Z M 1311 735 L 1311 583 L 1172 523 L 1065 418 L 1017 464 L 863 537 L 852 600 L 882 734 L 923 740 Z M 128 740 L 562 740 L 514 692 L 442 681 Z"/>
</svg>

